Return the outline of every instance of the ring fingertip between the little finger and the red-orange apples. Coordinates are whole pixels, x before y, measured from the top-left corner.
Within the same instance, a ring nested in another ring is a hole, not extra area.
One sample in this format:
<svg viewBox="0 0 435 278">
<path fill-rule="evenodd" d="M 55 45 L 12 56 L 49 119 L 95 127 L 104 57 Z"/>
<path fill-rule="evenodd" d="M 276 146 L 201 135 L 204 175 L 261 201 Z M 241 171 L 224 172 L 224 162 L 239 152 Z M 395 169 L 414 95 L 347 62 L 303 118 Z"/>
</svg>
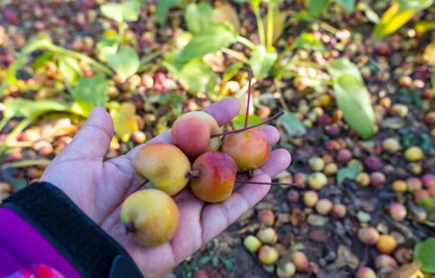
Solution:
<svg viewBox="0 0 435 278">
<path fill-rule="evenodd" d="M 255 169 L 253 174 L 257 175 L 263 173 L 272 178 L 287 169 L 291 162 L 292 157 L 287 150 L 277 149 L 270 153 L 268 161 L 266 161 L 266 163 L 261 165 L 261 167 L 258 169 Z"/>
</svg>

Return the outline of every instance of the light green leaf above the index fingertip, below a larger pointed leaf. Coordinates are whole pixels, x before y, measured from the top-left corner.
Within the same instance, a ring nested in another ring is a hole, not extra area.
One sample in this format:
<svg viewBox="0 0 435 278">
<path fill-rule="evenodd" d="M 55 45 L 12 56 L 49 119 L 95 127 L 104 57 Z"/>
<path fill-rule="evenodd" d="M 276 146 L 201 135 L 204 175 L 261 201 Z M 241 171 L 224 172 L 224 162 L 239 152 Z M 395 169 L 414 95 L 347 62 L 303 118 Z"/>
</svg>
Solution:
<svg viewBox="0 0 435 278">
<path fill-rule="evenodd" d="M 177 56 L 179 54 L 176 51 L 167 54 L 163 65 L 178 78 L 183 86 L 187 86 L 193 93 L 215 90 L 217 84 L 215 73 L 203 60 L 193 59 L 179 62 Z"/>
</svg>

